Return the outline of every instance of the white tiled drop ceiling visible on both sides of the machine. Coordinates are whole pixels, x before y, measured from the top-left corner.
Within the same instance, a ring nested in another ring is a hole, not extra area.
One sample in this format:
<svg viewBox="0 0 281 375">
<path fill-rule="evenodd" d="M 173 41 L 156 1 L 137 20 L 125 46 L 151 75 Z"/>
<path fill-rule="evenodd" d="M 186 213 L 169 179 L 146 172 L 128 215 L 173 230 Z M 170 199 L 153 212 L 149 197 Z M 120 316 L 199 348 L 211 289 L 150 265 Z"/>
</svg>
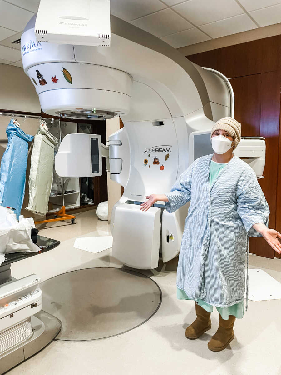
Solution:
<svg viewBox="0 0 281 375">
<path fill-rule="evenodd" d="M 21 66 L 20 46 L 12 42 L 21 37 L 39 2 L 0 0 L 0 62 Z M 111 0 L 110 3 L 113 15 L 175 48 L 274 24 L 281 19 L 278 0 Z"/>
</svg>

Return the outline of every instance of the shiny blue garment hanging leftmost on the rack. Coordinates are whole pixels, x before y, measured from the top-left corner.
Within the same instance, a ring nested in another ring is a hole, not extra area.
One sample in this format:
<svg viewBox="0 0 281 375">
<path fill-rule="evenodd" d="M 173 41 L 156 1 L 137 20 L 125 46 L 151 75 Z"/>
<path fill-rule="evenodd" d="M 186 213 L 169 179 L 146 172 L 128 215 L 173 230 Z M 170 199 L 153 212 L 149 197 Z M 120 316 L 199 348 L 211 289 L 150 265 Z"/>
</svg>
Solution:
<svg viewBox="0 0 281 375">
<path fill-rule="evenodd" d="M 0 204 L 15 208 L 16 217 L 21 213 L 25 190 L 28 142 L 33 135 L 25 132 L 10 121 L 7 126 L 7 148 L 0 167 Z"/>
</svg>

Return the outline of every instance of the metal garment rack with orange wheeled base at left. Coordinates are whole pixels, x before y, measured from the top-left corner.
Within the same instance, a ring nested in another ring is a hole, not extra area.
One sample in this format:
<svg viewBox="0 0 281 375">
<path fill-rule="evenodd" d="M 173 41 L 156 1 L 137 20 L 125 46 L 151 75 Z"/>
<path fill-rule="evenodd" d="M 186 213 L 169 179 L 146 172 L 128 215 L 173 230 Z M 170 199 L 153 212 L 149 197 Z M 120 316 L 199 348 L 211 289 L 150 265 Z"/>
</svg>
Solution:
<svg viewBox="0 0 281 375">
<path fill-rule="evenodd" d="M 24 117 L 24 119 L 26 118 L 37 118 L 39 121 L 42 121 L 42 120 L 49 120 L 49 118 L 45 118 L 45 117 L 42 117 L 42 116 L 37 116 L 37 115 L 25 115 L 25 114 L 21 114 L 21 113 L 6 113 L 6 112 L 0 112 L 0 115 L 2 116 L 9 116 L 9 117 L 12 117 L 14 118 L 15 116 L 16 117 Z M 52 118 L 52 121 L 54 121 L 54 118 Z M 59 126 L 59 130 L 60 130 L 60 142 L 61 142 L 61 126 L 60 126 L 60 119 L 58 119 L 59 123 L 58 123 L 58 126 Z M 39 221 L 35 221 L 34 223 L 37 225 L 37 224 L 43 224 L 43 223 L 50 223 L 50 222 L 54 222 L 54 221 L 63 221 L 63 220 L 71 220 L 72 224 L 75 223 L 75 219 L 76 219 L 76 216 L 74 215 L 69 215 L 69 214 L 66 214 L 66 211 L 65 211 L 65 200 L 64 200 L 64 178 L 61 177 L 61 180 L 62 180 L 62 196 L 63 196 L 63 207 L 61 208 L 61 210 L 57 211 L 55 213 L 55 217 L 53 219 L 46 219 L 46 220 L 39 220 Z"/>
</svg>

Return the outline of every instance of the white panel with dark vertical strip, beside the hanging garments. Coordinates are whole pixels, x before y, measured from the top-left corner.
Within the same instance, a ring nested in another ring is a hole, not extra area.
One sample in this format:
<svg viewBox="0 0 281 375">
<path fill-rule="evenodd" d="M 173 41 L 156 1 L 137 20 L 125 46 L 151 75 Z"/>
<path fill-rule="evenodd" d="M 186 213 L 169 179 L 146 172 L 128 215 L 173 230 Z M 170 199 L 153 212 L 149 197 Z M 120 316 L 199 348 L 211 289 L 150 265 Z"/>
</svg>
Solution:
<svg viewBox="0 0 281 375">
<path fill-rule="evenodd" d="M 55 170 L 61 177 L 101 176 L 101 136 L 67 134 L 55 156 Z"/>
</svg>

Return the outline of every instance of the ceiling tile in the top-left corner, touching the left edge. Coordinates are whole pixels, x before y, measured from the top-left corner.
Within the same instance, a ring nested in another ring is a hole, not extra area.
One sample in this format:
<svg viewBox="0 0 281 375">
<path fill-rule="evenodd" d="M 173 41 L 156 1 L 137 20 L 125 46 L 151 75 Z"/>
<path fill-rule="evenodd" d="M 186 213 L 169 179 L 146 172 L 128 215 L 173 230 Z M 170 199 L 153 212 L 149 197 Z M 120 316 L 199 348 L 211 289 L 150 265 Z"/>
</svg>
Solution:
<svg viewBox="0 0 281 375">
<path fill-rule="evenodd" d="M 33 13 L 0 0 L 0 26 L 22 31 Z"/>
</svg>

